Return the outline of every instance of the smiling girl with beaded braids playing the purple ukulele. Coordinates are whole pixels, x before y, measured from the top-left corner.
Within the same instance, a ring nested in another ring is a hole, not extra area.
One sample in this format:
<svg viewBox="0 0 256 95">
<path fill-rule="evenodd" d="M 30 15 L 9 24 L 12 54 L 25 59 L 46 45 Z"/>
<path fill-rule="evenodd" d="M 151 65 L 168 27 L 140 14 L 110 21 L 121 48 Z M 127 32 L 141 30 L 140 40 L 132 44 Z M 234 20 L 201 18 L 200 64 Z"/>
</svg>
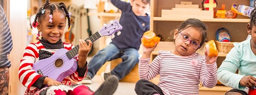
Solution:
<svg viewBox="0 0 256 95">
<path fill-rule="evenodd" d="M 40 33 L 42 37 L 38 42 L 27 46 L 20 60 L 18 72 L 19 81 L 27 87 L 25 94 L 113 94 L 119 81 L 116 76 L 108 78 L 95 92 L 86 85 L 76 83 L 87 74 L 87 57 L 92 47 L 90 40 L 87 42 L 79 40 L 78 56 L 74 58 L 77 60 L 74 63 L 77 64 L 77 69 L 62 81 L 56 81 L 33 70 L 36 61 L 50 57 L 59 49 L 71 50 L 74 47 L 70 43 L 61 41 L 66 19 L 70 28 L 70 14 L 63 3 L 49 3 L 47 0 L 46 4 L 38 10 L 32 25 L 38 29 L 38 37 Z"/>
</svg>

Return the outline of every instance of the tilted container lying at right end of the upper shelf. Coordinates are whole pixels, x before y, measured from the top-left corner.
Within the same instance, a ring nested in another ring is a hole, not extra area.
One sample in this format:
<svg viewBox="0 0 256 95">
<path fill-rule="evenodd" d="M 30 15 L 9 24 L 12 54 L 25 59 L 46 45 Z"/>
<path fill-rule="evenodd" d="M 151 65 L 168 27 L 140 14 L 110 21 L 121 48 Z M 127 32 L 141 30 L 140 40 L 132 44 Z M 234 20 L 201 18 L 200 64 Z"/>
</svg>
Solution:
<svg viewBox="0 0 256 95">
<path fill-rule="evenodd" d="M 248 17 L 250 17 L 251 11 L 253 9 L 254 9 L 253 7 L 249 7 L 249 6 L 241 5 L 241 4 L 240 5 L 233 4 L 231 7 L 231 10 L 236 12 L 237 14 L 248 16 Z"/>
</svg>

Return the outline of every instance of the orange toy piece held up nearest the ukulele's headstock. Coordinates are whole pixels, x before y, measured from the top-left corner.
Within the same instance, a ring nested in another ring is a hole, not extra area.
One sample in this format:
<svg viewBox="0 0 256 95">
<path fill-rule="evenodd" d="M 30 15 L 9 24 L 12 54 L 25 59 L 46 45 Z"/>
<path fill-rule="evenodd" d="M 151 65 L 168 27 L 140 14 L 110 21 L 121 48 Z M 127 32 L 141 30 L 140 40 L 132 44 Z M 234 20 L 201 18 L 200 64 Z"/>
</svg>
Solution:
<svg viewBox="0 0 256 95">
<path fill-rule="evenodd" d="M 160 42 L 160 39 L 161 38 L 156 37 L 156 34 L 153 31 L 149 30 L 143 34 L 141 43 L 146 47 L 154 47 L 156 43 Z"/>
</svg>

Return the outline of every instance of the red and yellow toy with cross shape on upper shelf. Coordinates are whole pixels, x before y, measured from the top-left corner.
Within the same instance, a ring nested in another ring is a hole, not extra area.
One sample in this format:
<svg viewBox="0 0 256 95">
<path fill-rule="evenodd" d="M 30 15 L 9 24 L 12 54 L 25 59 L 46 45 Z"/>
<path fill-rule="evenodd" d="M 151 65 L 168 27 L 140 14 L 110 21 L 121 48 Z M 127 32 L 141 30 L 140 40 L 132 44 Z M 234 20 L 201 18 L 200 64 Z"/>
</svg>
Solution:
<svg viewBox="0 0 256 95">
<path fill-rule="evenodd" d="M 202 6 L 204 10 L 215 10 L 218 3 L 216 0 L 204 0 Z"/>
</svg>

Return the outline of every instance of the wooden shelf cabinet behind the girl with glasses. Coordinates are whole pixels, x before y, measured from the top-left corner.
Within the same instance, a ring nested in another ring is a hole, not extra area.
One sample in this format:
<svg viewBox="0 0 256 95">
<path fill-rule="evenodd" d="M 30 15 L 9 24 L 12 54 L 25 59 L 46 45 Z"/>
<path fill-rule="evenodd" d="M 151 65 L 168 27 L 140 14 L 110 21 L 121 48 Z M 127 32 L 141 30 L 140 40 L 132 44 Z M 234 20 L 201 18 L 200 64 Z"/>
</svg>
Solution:
<svg viewBox="0 0 256 95">
<path fill-rule="evenodd" d="M 174 31 L 177 26 L 184 20 L 188 18 L 170 18 L 161 17 L 161 11 L 170 10 L 175 8 L 176 4 L 180 4 L 181 0 L 151 0 L 151 25 L 150 30 L 153 30 L 156 35 L 160 34 L 166 40 L 168 38 L 173 38 Z M 187 0 L 186 2 L 192 2 L 193 5 L 199 5 L 202 8 L 202 1 Z M 222 0 L 217 1 L 218 5 L 216 9 L 221 9 L 221 5 L 225 4 L 225 10 L 230 10 L 232 4 L 243 4 L 249 6 L 249 1 L 241 0 Z M 179 15 L 179 14 L 177 14 Z M 195 17 L 197 18 L 197 17 Z M 238 15 L 235 19 L 219 19 L 219 18 L 197 18 L 203 21 L 207 26 L 207 38 L 208 40 L 216 40 L 215 33 L 220 27 L 225 27 L 229 30 L 231 37 L 231 42 L 241 42 L 246 40 L 248 34 L 246 30 L 246 25 L 249 23 L 250 19 L 246 16 Z M 173 42 L 160 42 L 157 48 L 152 53 L 152 59 L 157 55 L 158 50 L 168 50 L 172 51 L 174 49 Z M 202 53 L 203 54 L 203 53 Z M 225 59 L 226 53 L 220 53 L 217 59 L 217 66 L 219 67 L 222 61 Z M 159 77 L 153 79 L 154 83 L 157 83 Z M 226 91 L 230 90 L 230 87 L 224 85 L 217 85 L 214 88 L 200 87 L 200 94 L 210 94 L 212 92 L 224 94 Z M 214 93 L 214 94 L 216 94 Z"/>
</svg>

